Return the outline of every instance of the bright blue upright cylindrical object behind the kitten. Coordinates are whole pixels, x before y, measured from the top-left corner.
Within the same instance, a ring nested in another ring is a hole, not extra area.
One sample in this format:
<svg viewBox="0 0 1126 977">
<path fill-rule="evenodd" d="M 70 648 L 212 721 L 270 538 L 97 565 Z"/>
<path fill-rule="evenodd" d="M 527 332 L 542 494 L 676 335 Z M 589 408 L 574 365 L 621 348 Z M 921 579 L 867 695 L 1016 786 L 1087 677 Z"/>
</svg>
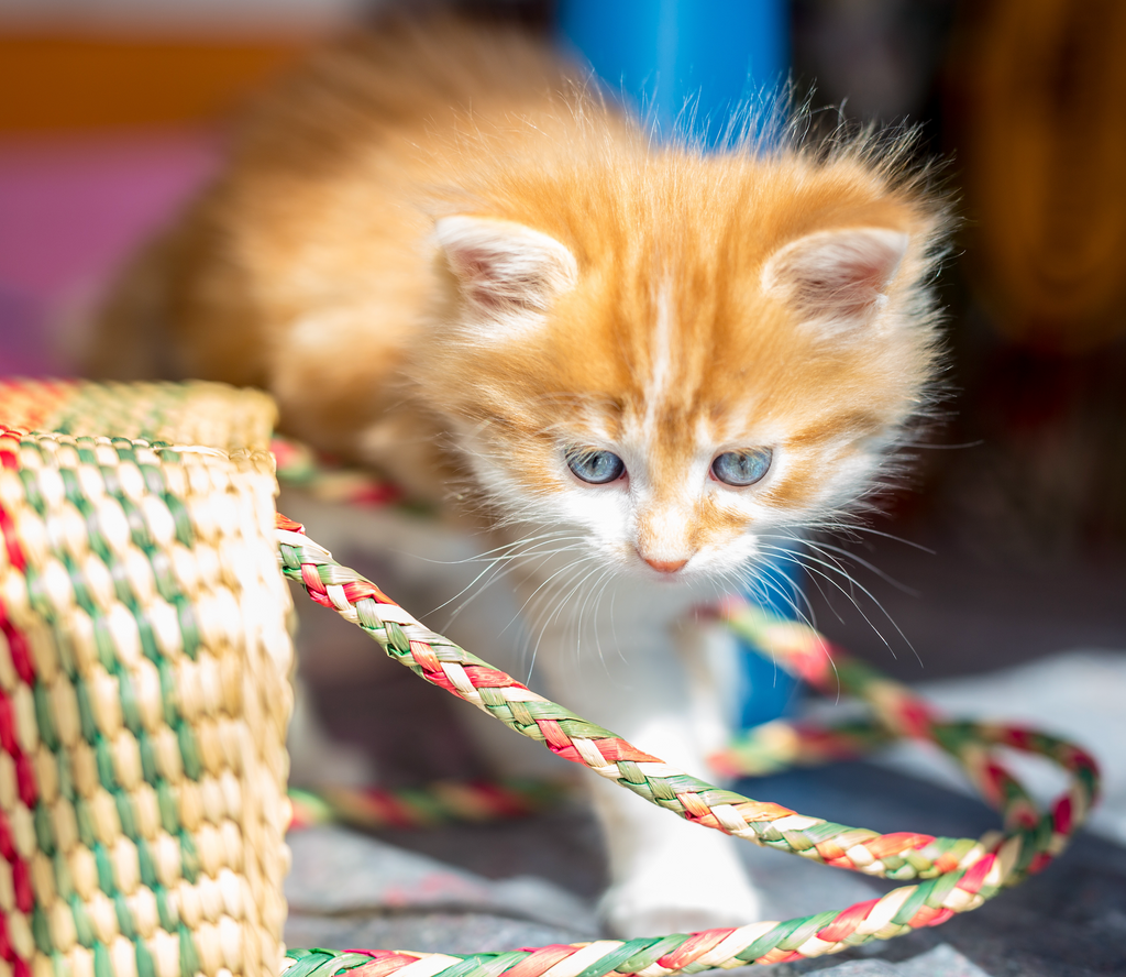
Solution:
<svg viewBox="0 0 1126 977">
<path fill-rule="evenodd" d="M 715 145 L 733 113 L 770 104 L 789 71 L 787 0 L 560 0 L 563 39 L 609 90 L 661 131 Z M 747 596 L 794 618 L 801 572 L 786 558 L 768 561 Z M 797 682 L 760 655 L 742 656 L 745 728 L 777 719 Z"/>
</svg>

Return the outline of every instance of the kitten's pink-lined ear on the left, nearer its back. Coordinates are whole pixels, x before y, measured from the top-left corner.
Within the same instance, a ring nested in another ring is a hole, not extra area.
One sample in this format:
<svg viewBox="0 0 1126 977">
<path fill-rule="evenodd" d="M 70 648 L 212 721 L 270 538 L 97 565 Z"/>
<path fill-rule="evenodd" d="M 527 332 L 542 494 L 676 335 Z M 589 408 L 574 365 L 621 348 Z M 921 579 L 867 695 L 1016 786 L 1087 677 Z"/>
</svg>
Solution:
<svg viewBox="0 0 1126 977">
<path fill-rule="evenodd" d="M 512 221 L 441 217 L 435 238 L 465 297 L 493 316 L 543 312 L 579 277 L 563 245 Z"/>
</svg>

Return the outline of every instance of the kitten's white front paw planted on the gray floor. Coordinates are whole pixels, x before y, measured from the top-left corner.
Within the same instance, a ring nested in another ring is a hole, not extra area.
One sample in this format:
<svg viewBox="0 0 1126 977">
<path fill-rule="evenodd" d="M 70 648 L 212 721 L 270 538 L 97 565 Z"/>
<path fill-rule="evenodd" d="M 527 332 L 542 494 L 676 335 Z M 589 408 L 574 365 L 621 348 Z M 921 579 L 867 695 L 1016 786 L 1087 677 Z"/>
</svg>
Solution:
<svg viewBox="0 0 1126 977">
<path fill-rule="evenodd" d="M 759 894 L 742 873 L 646 871 L 613 886 L 599 905 L 620 939 L 744 926 L 759 918 Z"/>
</svg>

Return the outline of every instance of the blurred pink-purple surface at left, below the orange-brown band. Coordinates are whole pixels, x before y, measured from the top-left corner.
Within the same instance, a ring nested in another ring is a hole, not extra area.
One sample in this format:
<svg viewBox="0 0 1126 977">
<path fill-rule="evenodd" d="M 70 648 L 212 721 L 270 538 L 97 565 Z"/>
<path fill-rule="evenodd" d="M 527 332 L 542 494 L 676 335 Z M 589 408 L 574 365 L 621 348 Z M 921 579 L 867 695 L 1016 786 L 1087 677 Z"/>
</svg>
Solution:
<svg viewBox="0 0 1126 977">
<path fill-rule="evenodd" d="M 75 372 L 96 296 L 218 158 L 209 131 L 0 137 L 0 374 Z"/>
</svg>

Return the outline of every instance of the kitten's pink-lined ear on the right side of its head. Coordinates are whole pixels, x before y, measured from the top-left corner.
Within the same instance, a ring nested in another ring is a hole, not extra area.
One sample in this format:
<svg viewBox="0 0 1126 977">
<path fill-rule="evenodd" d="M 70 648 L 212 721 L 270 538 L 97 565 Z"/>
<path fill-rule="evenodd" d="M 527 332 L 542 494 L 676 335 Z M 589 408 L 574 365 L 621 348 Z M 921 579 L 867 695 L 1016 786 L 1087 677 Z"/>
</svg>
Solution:
<svg viewBox="0 0 1126 977">
<path fill-rule="evenodd" d="M 885 228 L 817 231 L 767 261 L 762 287 L 832 331 L 844 331 L 878 311 L 909 242 L 903 232 Z"/>
</svg>

